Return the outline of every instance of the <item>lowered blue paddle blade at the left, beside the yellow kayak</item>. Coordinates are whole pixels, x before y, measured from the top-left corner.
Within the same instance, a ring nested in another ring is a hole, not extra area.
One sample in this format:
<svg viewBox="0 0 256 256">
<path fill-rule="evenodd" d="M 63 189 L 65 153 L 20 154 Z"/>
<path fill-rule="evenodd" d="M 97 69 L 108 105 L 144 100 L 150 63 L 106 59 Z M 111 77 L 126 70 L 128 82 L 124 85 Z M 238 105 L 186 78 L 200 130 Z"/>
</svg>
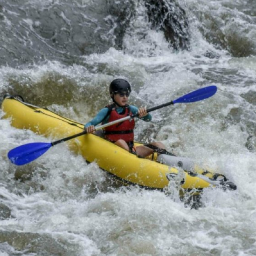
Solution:
<svg viewBox="0 0 256 256">
<path fill-rule="evenodd" d="M 43 155 L 51 147 L 52 143 L 28 143 L 10 150 L 8 153 L 8 158 L 16 165 L 27 164 Z"/>
</svg>

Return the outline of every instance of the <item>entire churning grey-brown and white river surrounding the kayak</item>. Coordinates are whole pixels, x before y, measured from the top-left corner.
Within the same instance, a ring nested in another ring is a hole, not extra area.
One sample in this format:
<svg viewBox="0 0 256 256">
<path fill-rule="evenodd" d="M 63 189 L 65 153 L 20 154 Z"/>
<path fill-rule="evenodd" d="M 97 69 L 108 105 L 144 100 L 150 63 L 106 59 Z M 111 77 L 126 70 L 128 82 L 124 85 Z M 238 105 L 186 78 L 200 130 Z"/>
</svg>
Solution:
<svg viewBox="0 0 256 256">
<path fill-rule="evenodd" d="M 0 119 L 0 256 L 256 255 L 256 1 L 159 1 L 180 21 L 172 26 L 185 47 L 167 40 L 161 21 L 152 25 L 152 2 L 0 0 L 0 101 L 20 94 L 86 123 L 118 77 L 132 85 L 130 103 L 148 108 L 216 85 L 205 101 L 137 121 L 135 135 L 226 175 L 237 190 L 205 189 L 203 207 L 190 209 L 171 186 L 114 185 L 65 143 L 17 167 L 10 149 L 49 138 Z"/>
</svg>

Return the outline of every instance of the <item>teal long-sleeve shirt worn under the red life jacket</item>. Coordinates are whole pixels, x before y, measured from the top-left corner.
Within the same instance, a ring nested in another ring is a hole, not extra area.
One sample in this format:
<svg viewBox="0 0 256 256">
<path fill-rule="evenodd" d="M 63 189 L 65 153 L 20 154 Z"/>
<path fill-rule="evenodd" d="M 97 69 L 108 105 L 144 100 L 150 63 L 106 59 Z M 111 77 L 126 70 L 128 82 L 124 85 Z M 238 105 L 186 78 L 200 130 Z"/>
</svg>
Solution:
<svg viewBox="0 0 256 256">
<path fill-rule="evenodd" d="M 133 115 L 138 114 L 139 109 L 135 106 L 130 105 L 130 110 Z M 124 111 L 124 108 L 116 108 L 118 114 L 121 114 Z M 109 115 L 108 115 L 108 108 L 102 108 L 99 113 L 88 123 L 84 125 L 84 128 L 87 128 L 90 125 L 96 126 L 99 123 L 105 124 L 108 122 Z M 143 121 L 149 122 L 152 120 L 152 116 L 150 114 L 140 118 Z"/>
</svg>

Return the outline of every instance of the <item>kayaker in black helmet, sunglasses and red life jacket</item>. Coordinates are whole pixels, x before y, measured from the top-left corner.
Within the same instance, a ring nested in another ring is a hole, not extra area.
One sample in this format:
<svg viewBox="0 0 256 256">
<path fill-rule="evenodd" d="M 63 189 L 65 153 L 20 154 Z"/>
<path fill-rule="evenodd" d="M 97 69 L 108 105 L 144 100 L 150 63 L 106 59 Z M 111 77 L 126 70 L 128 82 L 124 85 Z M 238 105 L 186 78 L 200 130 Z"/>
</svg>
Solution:
<svg viewBox="0 0 256 256">
<path fill-rule="evenodd" d="M 131 86 L 128 81 L 118 78 L 113 80 L 109 86 L 110 97 L 113 100 L 113 104 L 102 108 L 99 113 L 88 123 L 84 128 L 88 133 L 94 133 L 95 126 L 99 123 L 105 124 L 111 121 L 115 121 L 127 115 L 139 114 L 139 118 L 143 121 L 151 121 L 152 116 L 147 113 L 147 109 L 144 107 L 137 108 L 132 105 L 128 105 L 128 97 L 131 92 Z M 165 150 L 165 146 L 162 142 L 152 142 L 143 146 L 134 147 L 134 127 L 135 120 L 126 120 L 115 125 L 104 128 L 104 137 L 108 141 L 111 141 L 121 148 L 130 151 L 133 154 L 137 154 L 141 157 L 151 155 L 154 150 Z"/>
</svg>

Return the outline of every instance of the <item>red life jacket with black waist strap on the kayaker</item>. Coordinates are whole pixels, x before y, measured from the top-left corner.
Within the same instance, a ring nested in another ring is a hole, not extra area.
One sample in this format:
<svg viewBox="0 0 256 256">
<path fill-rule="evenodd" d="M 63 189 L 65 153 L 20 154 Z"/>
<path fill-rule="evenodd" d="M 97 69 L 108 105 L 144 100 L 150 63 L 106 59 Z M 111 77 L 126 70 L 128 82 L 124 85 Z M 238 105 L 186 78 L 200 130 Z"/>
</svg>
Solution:
<svg viewBox="0 0 256 256">
<path fill-rule="evenodd" d="M 117 113 L 115 104 L 107 106 L 107 108 L 110 109 L 108 122 L 115 121 L 117 119 L 126 117 L 128 115 L 132 115 L 129 105 L 125 106 L 124 114 Z M 122 121 L 121 123 L 108 126 L 104 129 L 105 138 L 108 141 L 112 141 L 112 142 L 115 142 L 118 140 L 124 140 L 126 142 L 134 141 L 134 131 L 133 131 L 134 127 L 135 127 L 134 119 Z"/>
</svg>

